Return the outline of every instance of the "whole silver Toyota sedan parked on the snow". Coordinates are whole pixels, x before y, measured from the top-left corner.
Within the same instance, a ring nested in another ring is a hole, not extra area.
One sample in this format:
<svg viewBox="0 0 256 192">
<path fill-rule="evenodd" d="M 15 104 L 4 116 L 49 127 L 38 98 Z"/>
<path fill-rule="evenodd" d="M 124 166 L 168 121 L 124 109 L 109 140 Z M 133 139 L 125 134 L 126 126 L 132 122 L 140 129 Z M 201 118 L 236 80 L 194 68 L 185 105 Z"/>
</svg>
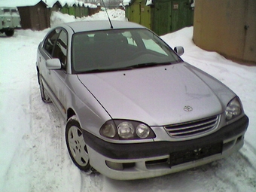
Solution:
<svg viewBox="0 0 256 192">
<path fill-rule="evenodd" d="M 41 99 L 65 118 L 79 169 L 150 178 L 242 148 L 248 117 L 239 97 L 183 52 L 136 23 L 65 23 L 48 32 L 36 62 Z"/>
</svg>

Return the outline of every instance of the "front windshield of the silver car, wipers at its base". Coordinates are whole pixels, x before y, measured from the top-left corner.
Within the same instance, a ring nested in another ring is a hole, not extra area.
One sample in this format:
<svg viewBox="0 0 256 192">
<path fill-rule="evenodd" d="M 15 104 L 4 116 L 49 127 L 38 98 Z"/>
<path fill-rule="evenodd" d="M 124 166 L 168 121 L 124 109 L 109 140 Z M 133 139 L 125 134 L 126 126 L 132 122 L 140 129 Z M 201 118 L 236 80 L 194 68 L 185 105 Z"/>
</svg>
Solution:
<svg viewBox="0 0 256 192">
<path fill-rule="evenodd" d="M 181 59 L 148 29 L 118 29 L 73 35 L 73 73 L 166 65 Z"/>
</svg>

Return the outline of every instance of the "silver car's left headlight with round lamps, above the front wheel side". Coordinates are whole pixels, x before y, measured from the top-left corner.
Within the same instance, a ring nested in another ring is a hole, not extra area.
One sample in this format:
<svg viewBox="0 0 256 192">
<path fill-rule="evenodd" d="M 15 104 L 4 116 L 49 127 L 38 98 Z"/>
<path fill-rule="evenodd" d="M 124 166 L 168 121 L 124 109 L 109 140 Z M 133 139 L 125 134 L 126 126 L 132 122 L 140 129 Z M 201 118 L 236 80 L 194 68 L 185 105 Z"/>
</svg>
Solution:
<svg viewBox="0 0 256 192">
<path fill-rule="evenodd" d="M 145 123 L 135 120 L 108 120 L 100 128 L 102 136 L 111 139 L 152 139 L 155 134 Z"/>
</svg>

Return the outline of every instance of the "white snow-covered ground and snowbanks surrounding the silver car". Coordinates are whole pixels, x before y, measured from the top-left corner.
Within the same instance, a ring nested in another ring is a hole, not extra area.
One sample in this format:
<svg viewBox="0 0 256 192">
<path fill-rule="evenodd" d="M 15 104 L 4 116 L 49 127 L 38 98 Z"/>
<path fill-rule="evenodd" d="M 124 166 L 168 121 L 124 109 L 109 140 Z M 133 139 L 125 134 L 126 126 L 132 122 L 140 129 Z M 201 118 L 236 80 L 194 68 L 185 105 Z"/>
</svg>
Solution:
<svg viewBox="0 0 256 192">
<path fill-rule="evenodd" d="M 109 11 L 123 20 L 123 11 Z M 80 20 L 106 19 L 105 12 Z M 75 20 L 53 14 L 52 23 Z M 35 70 L 36 50 L 49 29 L 0 35 L 0 191 L 256 191 L 256 66 L 239 65 L 192 41 L 193 27 L 162 36 L 181 45 L 186 62 L 208 72 L 238 94 L 250 119 L 243 148 L 223 160 L 158 178 L 115 181 L 85 175 L 72 163 L 64 139 L 65 123 L 53 104 L 44 104 Z"/>
</svg>

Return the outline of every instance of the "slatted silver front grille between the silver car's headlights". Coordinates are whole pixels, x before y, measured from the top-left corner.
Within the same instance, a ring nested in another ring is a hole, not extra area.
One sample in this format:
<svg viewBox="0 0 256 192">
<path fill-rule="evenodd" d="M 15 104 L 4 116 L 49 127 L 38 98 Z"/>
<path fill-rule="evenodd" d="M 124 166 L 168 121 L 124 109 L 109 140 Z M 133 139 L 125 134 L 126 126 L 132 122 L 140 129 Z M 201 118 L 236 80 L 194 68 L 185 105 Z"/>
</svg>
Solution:
<svg viewBox="0 0 256 192">
<path fill-rule="evenodd" d="M 201 120 L 194 120 L 185 123 L 177 123 L 168 126 L 164 126 L 164 129 L 169 133 L 169 136 L 174 138 L 197 136 L 210 130 L 215 129 L 218 126 L 220 117 L 209 117 Z"/>
</svg>

